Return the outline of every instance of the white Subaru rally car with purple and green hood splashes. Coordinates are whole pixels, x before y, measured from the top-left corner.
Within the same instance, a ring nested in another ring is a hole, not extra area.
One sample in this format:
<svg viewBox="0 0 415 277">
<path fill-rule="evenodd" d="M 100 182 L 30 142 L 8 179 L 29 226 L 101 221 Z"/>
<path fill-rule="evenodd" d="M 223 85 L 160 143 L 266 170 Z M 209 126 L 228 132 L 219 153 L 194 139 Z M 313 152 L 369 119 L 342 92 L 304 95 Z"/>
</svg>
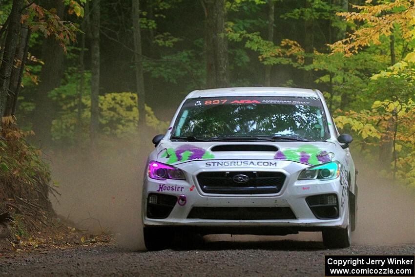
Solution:
<svg viewBox="0 0 415 277">
<path fill-rule="evenodd" d="M 357 186 L 322 93 L 281 87 L 196 90 L 154 137 L 143 186 L 148 250 L 174 234 L 321 231 L 348 247 Z"/>
</svg>

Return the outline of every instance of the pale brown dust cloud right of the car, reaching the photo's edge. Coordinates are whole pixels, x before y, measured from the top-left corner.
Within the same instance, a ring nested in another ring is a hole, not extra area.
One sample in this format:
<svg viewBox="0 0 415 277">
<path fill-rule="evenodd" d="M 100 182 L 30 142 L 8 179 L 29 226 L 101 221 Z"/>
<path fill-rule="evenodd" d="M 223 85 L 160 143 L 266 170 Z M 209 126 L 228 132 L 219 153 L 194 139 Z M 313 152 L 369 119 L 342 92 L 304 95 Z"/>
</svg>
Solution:
<svg viewBox="0 0 415 277">
<path fill-rule="evenodd" d="M 354 244 L 393 245 L 415 242 L 415 188 L 382 177 L 379 168 L 356 161 L 358 213 Z"/>
</svg>

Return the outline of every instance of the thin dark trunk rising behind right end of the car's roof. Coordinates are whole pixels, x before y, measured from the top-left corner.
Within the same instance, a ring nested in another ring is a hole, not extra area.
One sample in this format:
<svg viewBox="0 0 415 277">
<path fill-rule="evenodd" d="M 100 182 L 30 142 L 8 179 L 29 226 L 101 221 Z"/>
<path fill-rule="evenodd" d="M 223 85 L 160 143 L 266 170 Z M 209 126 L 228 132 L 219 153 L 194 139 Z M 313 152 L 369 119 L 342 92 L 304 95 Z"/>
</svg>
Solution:
<svg viewBox="0 0 415 277">
<path fill-rule="evenodd" d="M 306 0 L 306 8 L 311 9 L 311 3 Z M 312 54 L 314 52 L 314 19 L 309 16 L 304 22 L 304 65 L 310 65 L 313 62 Z M 312 70 L 304 71 L 304 87 L 311 88 L 313 83 Z"/>
</svg>

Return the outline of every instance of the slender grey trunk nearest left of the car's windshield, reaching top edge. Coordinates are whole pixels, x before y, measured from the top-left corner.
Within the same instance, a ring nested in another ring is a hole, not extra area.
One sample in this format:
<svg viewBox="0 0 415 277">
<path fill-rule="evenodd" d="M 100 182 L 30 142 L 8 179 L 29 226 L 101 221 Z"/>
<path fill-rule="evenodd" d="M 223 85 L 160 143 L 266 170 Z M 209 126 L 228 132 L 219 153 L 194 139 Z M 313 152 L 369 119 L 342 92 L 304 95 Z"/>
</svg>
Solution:
<svg viewBox="0 0 415 277">
<path fill-rule="evenodd" d="M 132 0 L 132 21 L 134 34 L 135 81 L 137 89 L 138 126 L 145 126 L 145 91 L 140 34 L 140 0 Z"/>
</svg>

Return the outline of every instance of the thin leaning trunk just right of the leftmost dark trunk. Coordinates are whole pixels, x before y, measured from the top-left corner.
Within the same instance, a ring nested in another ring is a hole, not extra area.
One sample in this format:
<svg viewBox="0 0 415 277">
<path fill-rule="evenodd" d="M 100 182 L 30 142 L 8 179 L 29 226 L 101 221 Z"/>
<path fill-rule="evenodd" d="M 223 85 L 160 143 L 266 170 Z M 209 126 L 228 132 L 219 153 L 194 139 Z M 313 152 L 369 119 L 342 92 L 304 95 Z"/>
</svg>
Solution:
<svg viewBox="0 0 415 277">
<path fill-rule="evenodd" d="M 19 97 L 20 88 L 21 88 L 21 78 L 24 73 L 24 66 L 27 61 L 27 51 L 29 49 L 29 40 L 30 40 L 31 31 L 24 24 L 20 32 L 20 43 L 17 49 L 15 59 L 20 62 L 20 66 L 13 70 L 10 77 L 9 84 L 9 95 L 7 97 L 6 110 L 4 116 L 14 115 L 17 106 L 17 98 Z"/>
</svg>

